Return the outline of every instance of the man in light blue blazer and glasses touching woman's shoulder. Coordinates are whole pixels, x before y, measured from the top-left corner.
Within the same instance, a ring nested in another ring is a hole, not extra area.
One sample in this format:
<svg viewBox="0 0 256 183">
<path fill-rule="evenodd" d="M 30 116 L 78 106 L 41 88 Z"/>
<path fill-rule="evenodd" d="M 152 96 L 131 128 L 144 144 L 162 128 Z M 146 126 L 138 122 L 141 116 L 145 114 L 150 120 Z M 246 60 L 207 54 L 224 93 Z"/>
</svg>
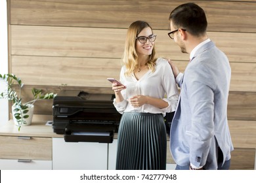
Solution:
<svg viewBox="0 0 256 183">
<path fill-rule="evenodd" d="M 190 54 L 183 74 L 169 60 L 181 88 L 170 132 L 176 169 L 229 169 L 234 148 L 227 121 L 228 58 L 207 37 L 205 12 L 198 5 L 180 5 L 169 20 L 169 37 Z"/>
</svg>

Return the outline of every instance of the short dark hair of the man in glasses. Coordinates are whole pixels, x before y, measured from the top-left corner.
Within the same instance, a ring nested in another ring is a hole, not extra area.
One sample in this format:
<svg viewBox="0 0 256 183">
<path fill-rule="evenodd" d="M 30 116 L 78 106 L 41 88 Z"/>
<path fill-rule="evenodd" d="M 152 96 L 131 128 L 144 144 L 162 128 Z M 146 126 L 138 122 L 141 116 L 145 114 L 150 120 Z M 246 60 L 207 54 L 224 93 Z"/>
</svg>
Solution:
<svg viewBox="0 0 256 183">
<path fill-rule="evenodd" d="M 173 26 L 177 29 L 186 29 L 195 36 L 203 35 L 207 29 L 205 12 L 195 3 L 179 5 L 171 12 L 169 20 L 173 22 Z"/>
</svg>

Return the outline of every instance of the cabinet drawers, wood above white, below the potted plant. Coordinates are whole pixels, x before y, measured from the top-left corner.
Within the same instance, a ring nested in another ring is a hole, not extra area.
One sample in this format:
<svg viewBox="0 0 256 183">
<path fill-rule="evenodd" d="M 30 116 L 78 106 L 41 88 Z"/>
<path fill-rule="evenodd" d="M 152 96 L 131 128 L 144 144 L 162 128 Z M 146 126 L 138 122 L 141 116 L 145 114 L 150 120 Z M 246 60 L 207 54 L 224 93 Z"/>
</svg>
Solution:
<svg viewBox="0 0 256 183">
<path fill-rule="evenodd" d="M 51 170 L 52 141 L 44 137 L 0 136 L 1 170 Z"/>
</svg>

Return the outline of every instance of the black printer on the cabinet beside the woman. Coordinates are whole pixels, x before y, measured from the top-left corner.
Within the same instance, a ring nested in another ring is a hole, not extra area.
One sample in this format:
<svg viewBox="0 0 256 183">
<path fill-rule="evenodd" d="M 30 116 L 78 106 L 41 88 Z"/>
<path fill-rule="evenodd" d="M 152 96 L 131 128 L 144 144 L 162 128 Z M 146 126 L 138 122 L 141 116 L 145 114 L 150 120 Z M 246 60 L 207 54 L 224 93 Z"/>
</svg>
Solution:
<svg viewBox="0 0 256 183">
<path fill-rule="evenodd" d="M 53 131 L 66 142 L 113 142 L 121 114 L 113 94 L 62 90 L 53 99 Z"/>
</svg>

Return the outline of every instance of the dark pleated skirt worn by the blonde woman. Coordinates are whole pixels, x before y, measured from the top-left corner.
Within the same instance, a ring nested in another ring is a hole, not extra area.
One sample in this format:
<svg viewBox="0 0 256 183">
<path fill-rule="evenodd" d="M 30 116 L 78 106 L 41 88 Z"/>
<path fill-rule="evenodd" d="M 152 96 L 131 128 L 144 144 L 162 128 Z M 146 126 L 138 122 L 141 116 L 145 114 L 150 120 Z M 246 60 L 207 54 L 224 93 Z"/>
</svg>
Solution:
<svg viewBox="0 0 256 183">
<path fill-rule="evenodd" d="M 166 169 L 167 141 L 162 114 L 124 112 L 117 138 L 117 170 Z"/>
</svg>

